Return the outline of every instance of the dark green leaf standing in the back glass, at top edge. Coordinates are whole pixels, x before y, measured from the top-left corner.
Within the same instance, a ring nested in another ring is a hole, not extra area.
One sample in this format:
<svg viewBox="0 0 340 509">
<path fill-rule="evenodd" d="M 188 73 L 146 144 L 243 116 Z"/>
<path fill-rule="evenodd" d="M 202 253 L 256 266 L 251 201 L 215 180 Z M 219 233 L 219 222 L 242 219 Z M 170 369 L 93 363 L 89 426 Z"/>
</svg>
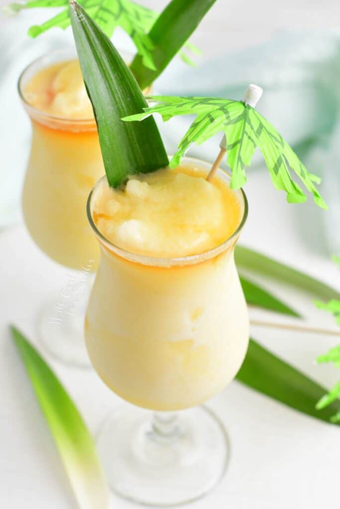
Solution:
<svg viewBox="0 0 340 509">
<path fill-rule="evenodd" d="M 130 69 L 142 90 L 163 72 L 176 53 L 184 46 L 206 12 L 216 0 L 172 0 L 153 24 L 149 37 L 155 70 L 148 69 L 141 55 L 136 55 Z"/>
</svg>

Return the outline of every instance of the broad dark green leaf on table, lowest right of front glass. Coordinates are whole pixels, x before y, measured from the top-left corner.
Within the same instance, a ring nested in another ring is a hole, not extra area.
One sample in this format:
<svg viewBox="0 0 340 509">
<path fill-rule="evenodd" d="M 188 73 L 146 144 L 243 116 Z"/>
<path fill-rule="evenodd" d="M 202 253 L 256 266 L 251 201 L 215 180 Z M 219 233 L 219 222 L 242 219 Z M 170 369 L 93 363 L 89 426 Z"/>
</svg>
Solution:
<svg viewBox="0 0 340 509">
<path fill-rule="evenodd" d="M 316 402 L 323 397 L 326 389 L 252 339 L 236 379 L 284 405 L 325 422 L 333 422 L 334 413 L 340 412 L 340 401 L 336 398 L 329 406 L 318 410 Z"/>
</svg>

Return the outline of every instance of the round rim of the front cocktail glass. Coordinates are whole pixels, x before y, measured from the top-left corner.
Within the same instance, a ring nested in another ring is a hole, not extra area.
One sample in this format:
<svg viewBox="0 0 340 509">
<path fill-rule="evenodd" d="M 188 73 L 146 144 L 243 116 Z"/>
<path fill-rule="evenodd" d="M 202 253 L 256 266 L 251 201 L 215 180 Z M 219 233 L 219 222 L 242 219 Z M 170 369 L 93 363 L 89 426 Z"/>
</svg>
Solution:
<svg viewBox="0 0 340 509">
<path fill-rule="evenodd" d="M 169 156 L 169 158 L 170 157 L 171 156 Z M 198 158 L 194 158 L 194 157 L 184 157 L 182 159 L 182 162 L 189 162 L 189 163 L 196 163 L 196 164 L 203 163 L 205 165 L 211 166 L 211 163 L 209 163 L 208 161 L 204 161 L 202 159 L 198 159 Z M 162 169 L 162 168 L 160 168 L 160 169 Z M 230 175 L 220 167 L 217 170 L 217 175 L 230 182 L 230 179 L 231 179 Z M 104 235 L 98 230 L 98 228 L 93 220 L 92 211 L 91 211 L 92 196 L 93 196 L 93 193 L 96 190 L 97 186 L 104 179 L 106 179 L 106 175 L 101 177 L 95 183 L 95 185 L 91 189 L 91 192 L 87 199 L 86 213 L 87 213 L 87 218 L 90 223 L 90 226 L 91 226 L 94 234 L 96 235 L 99 243 L 103 244 L 104 247 L 109 249 L 109 251 L 114 252 L 120 258 L 123 258 L 124 260 L 128 260 L 128 261 L 134 262 L 134 263 L 139 263 L 141 265 L 148 265 L 148 266 L 153 266 L 153 267 L 181 267 L 181 266 L 186 266 L 186 265 L 196 265 L 198 263 L 216 258 L 218 256 L 218 254 L 226 251 L 234 242 L 236 242 L 238 240 L 240 233 L 241 233 L 241 231 L 245 225 L 245 222 L 247 220 L 247 217 L 248 217 L 248 210 L 249 210 L 248 200 L 247 200 L 246 193 L 244 192 L 243 188 L 241 187 L 240 189 L 237 190 L 240 192 L 240 195 L 242 196 L 242 199 L 243 199 L 243 215 L 242 215 L 241 221 L 240 221 L 237 229 L 226 240 L 221 242 L 221 244 L 219 244 L 211 249 L 207 249 L 206 251 L 203 251 L 201 253 L 189 254 L 188 256 L 184 256 L 184 257 L 163 258 L 163 257 L 152 257 L 152 256 L 147 256 L 145 254 L 134 253 L 132 251 L 128 251 L 127 249 L 117 246 L 116 244 L 114 244 L 113 242 L 108 240 L 106 237 L 104 237 Z"/>
</svg>

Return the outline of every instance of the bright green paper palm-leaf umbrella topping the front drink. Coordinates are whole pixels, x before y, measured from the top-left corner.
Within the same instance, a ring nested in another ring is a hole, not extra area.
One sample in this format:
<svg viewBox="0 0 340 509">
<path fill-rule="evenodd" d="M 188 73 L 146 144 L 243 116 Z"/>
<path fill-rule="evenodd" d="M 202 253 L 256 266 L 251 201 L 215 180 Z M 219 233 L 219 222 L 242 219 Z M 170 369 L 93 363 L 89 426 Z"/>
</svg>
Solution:
<svg viewBox="0 0 340 509">
<path fill-rule="evenodd" d="M 178 115 L 196 115 L 190 128 L 179 142 L 170 166 L 175 167 L 192 143 L 201 145 L 215 134 L 223 131 L 227 138 L 227 162 L 232 170 L 230 186 L 242 187 L 246 182 L 245 167 L 251 163 L 256 147 L 263 154 L 275 189 L 286 192 L 287 201 L 299 203 L 306 200 L 300 186 L 294 182 L 291 172 L 300 178 L 310 191 L 315 203 L 327 208 L 314 182 L 320 180 L 307 169 L 295 152 L 276 129 L 243 101 L 232 101 L 214 97 L 149 96 L 158 104 L 144 108 L 144 113 L 124 118 L 125 121 L 141 121 L 159 113 L 163 121 Z"/>
</svg>

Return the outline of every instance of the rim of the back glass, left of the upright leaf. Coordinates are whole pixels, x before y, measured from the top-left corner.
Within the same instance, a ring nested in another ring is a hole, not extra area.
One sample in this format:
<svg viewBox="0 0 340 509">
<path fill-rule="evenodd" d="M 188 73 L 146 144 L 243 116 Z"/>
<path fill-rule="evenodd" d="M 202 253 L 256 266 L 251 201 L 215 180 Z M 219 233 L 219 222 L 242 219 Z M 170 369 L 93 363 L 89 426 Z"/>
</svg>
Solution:
<svg viewBox="0 0 340 509">
<path fill-rule="evenodd" d="M 22 79 L 23 79 L 24 75 L 27 73 L 27 71 L 29 71 L 30 68 L 32 66 L 34 66 L 35 64 L 37 64 L 39 61 L 43 61 L 43 59 L 45 59 L 46 57 L 63 54 L 63 53 L 65 53 L 65 54 L 68 53 L 69 55 L 73 55 L 75 58 L 77 58 L 76 49 L 70 46 L 67 48 L 55 49 L 53 51 L 48 51 L 47 53 L 44 53 L 44 54 L 38 56 L 36 59 L 32 60 L 32 62 L 30 62 L 21 71 L 21 73 L 19 75 L 19 78 L 17 81 L 17 90 L 18 90 L 19 97 L 20 97 L 22 103 L 24 104 L 24 106 L 28 109 L 28 111 L 32 112 L 32 114 L 34 114 L 38 118 L 56 122 L 58 124 L 65 124 L 68 126 L 70 124 L 74 124 L 74 125 L 78 125 L 78 126 L 95 126 L 96 122 L 95 122 L 94 117 L 88 118 L 88 119 L 77 119 L 77 118 L 63 117 L 60 115 L 51 115 L 51 114 L 47 113 L 46 111 L 36 108 L 24 97 L 23 90 L 22 90 Z M 46 67 L 47 67 L 47 65 L 46 65 Z M 42 69 L 43 68 L 44 67 L 42 67 Z"/>
</svg>

